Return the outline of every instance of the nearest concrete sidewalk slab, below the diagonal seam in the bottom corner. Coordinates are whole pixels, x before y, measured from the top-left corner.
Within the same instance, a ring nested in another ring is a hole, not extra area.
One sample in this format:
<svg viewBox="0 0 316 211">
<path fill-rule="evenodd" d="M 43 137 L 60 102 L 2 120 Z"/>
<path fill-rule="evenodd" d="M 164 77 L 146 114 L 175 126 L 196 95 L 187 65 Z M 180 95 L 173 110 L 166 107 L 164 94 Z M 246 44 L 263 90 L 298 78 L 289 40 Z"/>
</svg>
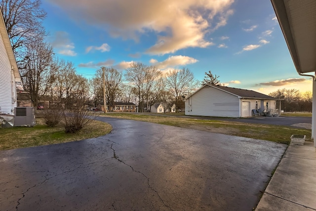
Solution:
<svg viewBox="0 0 316 211">
<path fill-rule="evenodd" d="M 313 211 L 302 205 L 264 193 L 256 211 Z"/>
</svg>

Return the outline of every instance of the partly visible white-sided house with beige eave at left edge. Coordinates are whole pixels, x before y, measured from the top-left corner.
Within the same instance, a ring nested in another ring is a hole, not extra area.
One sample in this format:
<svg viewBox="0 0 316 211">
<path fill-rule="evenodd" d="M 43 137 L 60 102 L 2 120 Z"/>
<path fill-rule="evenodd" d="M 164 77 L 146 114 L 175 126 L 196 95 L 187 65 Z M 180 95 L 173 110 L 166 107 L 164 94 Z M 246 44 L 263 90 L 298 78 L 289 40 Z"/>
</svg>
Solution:
<svg viewBox="0 0 316 211">
<path fill-rule="evenodd" d="M 16 82 L 21 78 L 0 12 L 0 114 L 14 114 Z"/>
</svg>

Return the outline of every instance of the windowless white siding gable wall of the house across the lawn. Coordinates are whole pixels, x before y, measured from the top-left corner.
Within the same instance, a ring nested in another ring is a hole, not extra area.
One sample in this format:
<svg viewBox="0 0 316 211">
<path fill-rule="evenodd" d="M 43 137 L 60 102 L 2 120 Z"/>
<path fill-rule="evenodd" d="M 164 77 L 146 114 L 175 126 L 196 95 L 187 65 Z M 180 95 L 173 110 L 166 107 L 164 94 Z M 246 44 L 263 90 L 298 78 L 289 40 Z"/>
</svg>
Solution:
<svg viewBox="0 0 316 211">
<path fill-rule="evenodd" d="M 185 113 L 196 116 L 240 117 L 239 102 L 236 95 L 205 86 L 186 99 Z"/>
</svg>

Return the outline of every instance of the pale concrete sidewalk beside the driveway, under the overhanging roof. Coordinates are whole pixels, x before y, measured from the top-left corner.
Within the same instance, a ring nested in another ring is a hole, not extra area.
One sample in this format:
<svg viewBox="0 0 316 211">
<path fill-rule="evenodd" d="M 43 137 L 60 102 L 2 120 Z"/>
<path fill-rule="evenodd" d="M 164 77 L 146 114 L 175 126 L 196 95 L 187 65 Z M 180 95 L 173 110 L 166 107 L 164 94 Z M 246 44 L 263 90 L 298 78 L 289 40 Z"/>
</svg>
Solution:
<svg viewBox="0 0 316 211">
<path fill-rule="evenodd" d="M 316 148 L 289 145 L 256 211 L 316 211 Z"/>
</svg>

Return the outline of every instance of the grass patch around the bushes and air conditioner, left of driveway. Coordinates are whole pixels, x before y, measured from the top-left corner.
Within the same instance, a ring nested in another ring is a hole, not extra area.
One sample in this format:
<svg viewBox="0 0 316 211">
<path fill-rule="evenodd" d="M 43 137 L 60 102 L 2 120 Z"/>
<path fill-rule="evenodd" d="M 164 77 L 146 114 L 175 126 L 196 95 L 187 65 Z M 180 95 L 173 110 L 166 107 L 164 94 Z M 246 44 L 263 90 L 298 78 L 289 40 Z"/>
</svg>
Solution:
<svg viewBox="0 0 316 211">
<path fill-rule="evenodd" d="M 78 133 L 65 133 L 62 125 L 47 127 L 42 119 L 37 122 L 35 127 L 0 128 L 0 150 L 77 141 L 105 135 L 112 130 L 107 123 L 92 121 Z"/>
</svg>

